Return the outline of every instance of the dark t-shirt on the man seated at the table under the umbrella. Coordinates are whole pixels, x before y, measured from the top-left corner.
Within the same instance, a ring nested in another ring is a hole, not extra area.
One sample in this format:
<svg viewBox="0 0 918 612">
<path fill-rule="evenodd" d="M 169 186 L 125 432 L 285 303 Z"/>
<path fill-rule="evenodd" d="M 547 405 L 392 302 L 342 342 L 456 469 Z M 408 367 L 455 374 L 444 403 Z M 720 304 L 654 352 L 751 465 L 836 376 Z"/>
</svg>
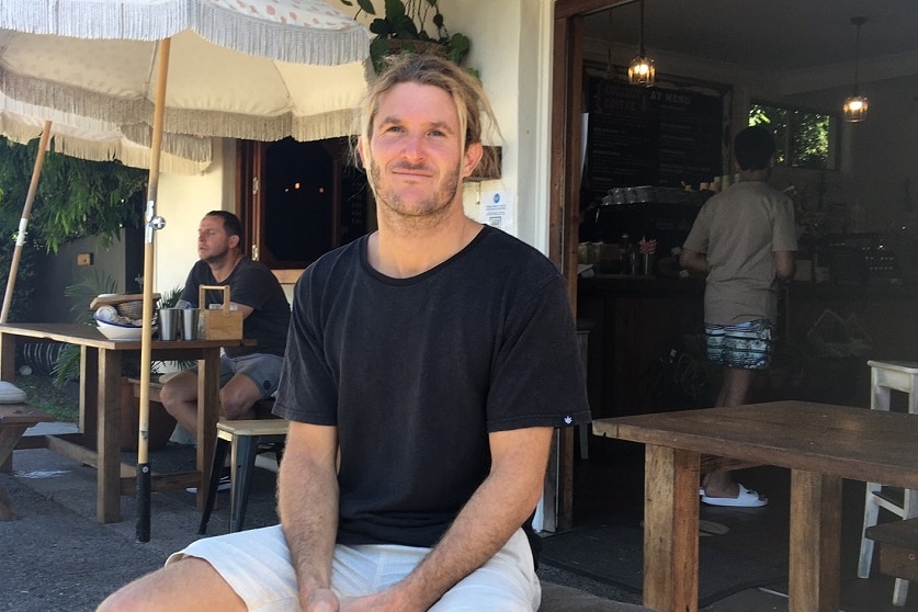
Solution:
<svg viewBox="0 0 918 612">
<path fill-rule="evenodd" d="M 231 358 L 268 353 L 284 354 L 287 327 L 290 327 L 290 303 L 277 277 L 263 263 L 243 257 L 223 283 L 218 283 L 206 262 L 199 261 L 189 272 L 181 298 L 195 308 L 209 304 L 223 304 L 222 291 L 207 291 L 205 305 L 199 306 L 201 285 L 229 285 L 229 301 L 252 308 L 252 314 L 242 321 L 242 336 L 258 341 L 254 347 L 226 349 Z"/>
</svg>

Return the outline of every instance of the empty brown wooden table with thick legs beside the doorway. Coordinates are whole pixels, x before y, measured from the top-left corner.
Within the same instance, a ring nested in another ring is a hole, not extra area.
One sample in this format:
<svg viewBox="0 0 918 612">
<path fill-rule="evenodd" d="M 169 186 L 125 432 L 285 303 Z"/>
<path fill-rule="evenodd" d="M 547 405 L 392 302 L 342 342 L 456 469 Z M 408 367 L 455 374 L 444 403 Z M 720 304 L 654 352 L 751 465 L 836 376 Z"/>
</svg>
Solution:
<svg viewBox="0 0 918 612">
<path fill-rule="evenodd" d="M 593 421 L 597 435 L 646 445 L 644 604 L 698 610 L 702 455 L 791 469 L 790 612 L 839 605 L 841 480 L 918 488 L 915 416 L 775 401 Z"/>
</svg>

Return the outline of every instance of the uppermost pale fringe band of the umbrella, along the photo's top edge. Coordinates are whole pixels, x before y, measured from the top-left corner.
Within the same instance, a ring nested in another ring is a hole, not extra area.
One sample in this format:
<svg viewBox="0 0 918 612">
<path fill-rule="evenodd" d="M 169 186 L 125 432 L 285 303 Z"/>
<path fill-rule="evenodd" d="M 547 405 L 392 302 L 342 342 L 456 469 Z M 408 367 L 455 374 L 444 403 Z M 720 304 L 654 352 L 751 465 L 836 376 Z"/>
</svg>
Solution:
<svg viewBox="0 0 918 612">
<path fill-rule="evenodd" d="M 33 34 L 133 41 L 159 41 L 192 30 L 212 43 L 240 53 L 317 66 L 360 61 L 370 52 L 369 31 L 325 2 L 304 9 L 303 18 L 308 16 L 308 23 L 298 21 L 296 11 L 276 14 L 273 9 L 268 3 L 269 14 L 254 13 L 240 19 L 239 13 L 233 14 L 224 7 L 201 0 L 155 4 L 3 0 L 0 22 L 12 30 Z M 249 10 L 257 9 L 250 7 Z M 308 44 L 305 45 L 304 30 L 308 31 Z M 342 35 L 342 31 L 347 35 Z"/>
</svg>

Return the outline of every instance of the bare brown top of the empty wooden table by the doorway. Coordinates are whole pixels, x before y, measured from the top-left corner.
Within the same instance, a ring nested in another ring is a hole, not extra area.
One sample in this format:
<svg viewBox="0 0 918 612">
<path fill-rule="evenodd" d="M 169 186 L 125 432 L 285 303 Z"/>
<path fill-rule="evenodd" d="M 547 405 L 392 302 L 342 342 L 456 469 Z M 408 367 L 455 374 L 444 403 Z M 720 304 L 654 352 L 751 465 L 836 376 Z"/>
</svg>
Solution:
<svg viewBox="0 0 918 612">
<path fill-rule="evenodd" d="M 597 435 L 918 488 L 918 416 L 811 401 L 593 421 Z"/>
</svg>

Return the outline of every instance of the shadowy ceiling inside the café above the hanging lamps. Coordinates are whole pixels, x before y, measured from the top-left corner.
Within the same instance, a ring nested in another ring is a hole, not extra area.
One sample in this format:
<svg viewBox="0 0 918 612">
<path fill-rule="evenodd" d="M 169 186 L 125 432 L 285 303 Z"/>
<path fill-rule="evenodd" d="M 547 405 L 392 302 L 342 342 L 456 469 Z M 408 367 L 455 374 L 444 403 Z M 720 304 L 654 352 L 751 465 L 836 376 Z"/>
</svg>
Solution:
<svg viewBox="0 0 918 612">
<path fill-rule="evenodd" d="M 608 10 L 587 18 L 587 47 L 596 52 L 612 42 L 636 52 L 639 2 L 613 3 L 611 18 Z M 644 11 L 649 55 L 783 75 L 784 93 L 851 82 L 853 16 L 868 18 L 861 26 L 861 82 L 918 75 L 916 0 L 645 0 Z M 666 72 L 659 59 L 657 69 Z"/>
</svg>

